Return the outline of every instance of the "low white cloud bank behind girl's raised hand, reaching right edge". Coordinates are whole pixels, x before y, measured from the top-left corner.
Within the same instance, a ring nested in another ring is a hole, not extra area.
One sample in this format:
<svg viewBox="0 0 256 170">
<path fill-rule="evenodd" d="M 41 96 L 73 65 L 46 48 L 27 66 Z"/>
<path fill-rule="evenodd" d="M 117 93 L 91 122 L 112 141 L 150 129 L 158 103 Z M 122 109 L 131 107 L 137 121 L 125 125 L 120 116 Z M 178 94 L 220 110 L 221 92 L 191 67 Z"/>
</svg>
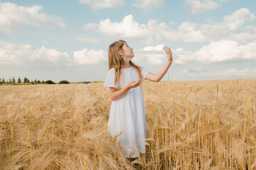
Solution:
<svg viewBox="0 0 256 170">
<path fill-rule="evenodd" d="M 146 46 L 135 50 L 135 62 L 143 64 L 163 64 L 166 62 L 166 54 L 161 48 L 164 45 Z M 256 42 L 239 45 L 234 40 L 220 40 L 210 42 L 195 52 L 173 49 L 174 63 L 185 64 L 186 62 L 217 63 L 235 62 L 242 60 L 256 60 Z M 196 69 L 194 69 L 196 71 Z"/>
</svg>

